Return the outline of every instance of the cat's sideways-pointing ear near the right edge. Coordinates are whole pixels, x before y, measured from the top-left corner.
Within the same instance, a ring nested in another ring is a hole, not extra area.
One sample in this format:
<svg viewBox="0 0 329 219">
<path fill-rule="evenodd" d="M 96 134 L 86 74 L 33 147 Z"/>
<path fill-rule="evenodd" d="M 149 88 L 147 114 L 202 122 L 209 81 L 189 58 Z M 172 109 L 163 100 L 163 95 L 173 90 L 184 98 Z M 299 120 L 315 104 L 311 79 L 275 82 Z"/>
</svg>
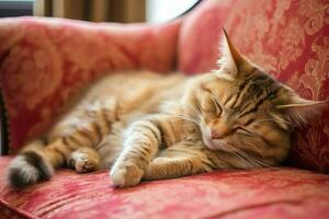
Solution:
<svg viewBox="0 0 329 219">
<path fill-rule="evenodd" d="M 285 111 L 294 127 L 300 127 L 319 116 L 324 110 L 328 110 L 329 100 L 309 101 L 296 95 L 292 97 L 288 104 L 277 105 L 276 108 Z"/>
</svg>

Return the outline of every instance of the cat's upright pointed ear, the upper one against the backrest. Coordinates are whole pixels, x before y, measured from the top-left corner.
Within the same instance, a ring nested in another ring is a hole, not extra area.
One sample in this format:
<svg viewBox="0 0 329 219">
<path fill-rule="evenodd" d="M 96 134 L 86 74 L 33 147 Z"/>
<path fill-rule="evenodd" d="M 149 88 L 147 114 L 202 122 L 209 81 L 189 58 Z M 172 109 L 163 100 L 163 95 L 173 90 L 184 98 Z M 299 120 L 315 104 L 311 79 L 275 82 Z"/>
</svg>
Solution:
<svg viewBox="0 0 329 219">
<path fill-rule="evenodd" d="M 242 68 L 250 68 L 251 65 L 232 45 L 224 28 L 223 33 L 223 39 L 219 47 L 222 56 L 217 64 L 220 67 L 220 71 L 237 77 Z"/>
</svg>

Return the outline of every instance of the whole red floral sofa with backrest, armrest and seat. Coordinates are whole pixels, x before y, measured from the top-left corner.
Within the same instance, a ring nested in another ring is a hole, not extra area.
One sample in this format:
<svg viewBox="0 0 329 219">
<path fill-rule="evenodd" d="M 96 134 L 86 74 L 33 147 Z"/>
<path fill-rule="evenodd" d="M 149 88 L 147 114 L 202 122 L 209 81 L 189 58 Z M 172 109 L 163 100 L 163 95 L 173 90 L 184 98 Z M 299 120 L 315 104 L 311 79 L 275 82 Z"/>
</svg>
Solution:
<svg viewBox="0 0 329 219">
<path fill-rule="evenodd" d="M 24 189 L 5 171 L 80 88 L 104 73 L 217 69 L 222 27 L 253 62 L 303 97 L 329 99 L 329 2 L 204 0 L 162 24 L 0 19 L 0 89 L 9 154 L 0 157 L 0 218 L 329 218 L 329 114 L 296 130 L 279 166 L 223 170 L 111 186 L 109 171 L 55 176 Z M 3 117 L 1 118 L 3 119 Z"/>
</svg>

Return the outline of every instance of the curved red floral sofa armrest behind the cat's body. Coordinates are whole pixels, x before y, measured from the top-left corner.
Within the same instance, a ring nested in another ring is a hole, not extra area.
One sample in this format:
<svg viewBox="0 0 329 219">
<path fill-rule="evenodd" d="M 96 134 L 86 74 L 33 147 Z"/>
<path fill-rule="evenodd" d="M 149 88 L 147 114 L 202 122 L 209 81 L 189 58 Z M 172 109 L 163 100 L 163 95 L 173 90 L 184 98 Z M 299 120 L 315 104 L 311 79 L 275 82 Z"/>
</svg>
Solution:
<svg viewBox="0 0 329 219">
<path fill-rule="evenodd" d="M 162 25 L 0 19 L 0 85 L 13 150 L 105 72 L 173 68 L 180 22 Z"/>
</svg>

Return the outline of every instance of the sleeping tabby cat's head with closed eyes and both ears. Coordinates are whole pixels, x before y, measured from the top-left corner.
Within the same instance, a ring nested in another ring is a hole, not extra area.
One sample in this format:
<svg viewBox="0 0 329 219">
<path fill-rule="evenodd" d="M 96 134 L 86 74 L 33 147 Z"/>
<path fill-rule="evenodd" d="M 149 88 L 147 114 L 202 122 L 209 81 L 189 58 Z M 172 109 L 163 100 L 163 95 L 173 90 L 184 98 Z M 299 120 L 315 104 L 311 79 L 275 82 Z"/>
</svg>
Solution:
<svg viewBox="0 0 329 219">
<path fill-rule="evenodd" d="M 192 104 L 200 111 L 204 143 L 237 157 L 249 155 L 246 160 L 261 159 L 259 164 L 282 161 L 294 128 L 328 101 L 299 97 L 243 57 L 226 33 L 222 47 L 219 70 L 202 76 L 193 88 Z"/>
</svg>

